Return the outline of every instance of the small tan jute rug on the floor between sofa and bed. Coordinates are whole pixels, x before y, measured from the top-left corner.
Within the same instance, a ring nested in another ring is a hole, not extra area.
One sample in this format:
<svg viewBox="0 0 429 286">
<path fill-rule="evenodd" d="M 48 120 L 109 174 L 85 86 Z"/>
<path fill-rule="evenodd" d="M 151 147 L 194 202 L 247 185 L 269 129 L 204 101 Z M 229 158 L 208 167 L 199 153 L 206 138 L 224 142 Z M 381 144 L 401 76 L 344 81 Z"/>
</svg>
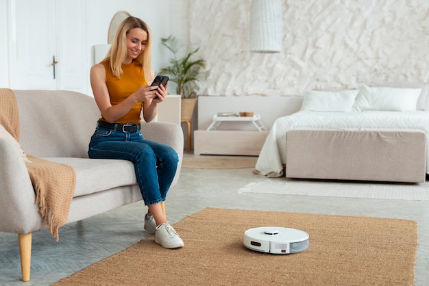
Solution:
<svg viewBox="0 0 429 286">
<path fill-rule="evenodd" d="M 254 168 L 258 157 L 199 155 L 184 157 L 182 168 L 191 169 L 241 169 Z"/>
</svg>

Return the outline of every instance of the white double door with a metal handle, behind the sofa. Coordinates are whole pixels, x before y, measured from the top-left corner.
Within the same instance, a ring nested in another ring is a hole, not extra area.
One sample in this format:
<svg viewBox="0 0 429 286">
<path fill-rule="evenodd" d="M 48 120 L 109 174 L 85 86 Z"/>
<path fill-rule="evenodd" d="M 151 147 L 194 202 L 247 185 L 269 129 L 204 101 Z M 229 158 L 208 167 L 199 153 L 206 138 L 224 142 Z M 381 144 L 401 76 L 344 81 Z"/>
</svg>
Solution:
<svg viewBox="0 0 429 286">
<path fill-rule="evenodd" d="M 10 1 L 11 88 L 86 93 L 85 1 Z"/>
</svg>

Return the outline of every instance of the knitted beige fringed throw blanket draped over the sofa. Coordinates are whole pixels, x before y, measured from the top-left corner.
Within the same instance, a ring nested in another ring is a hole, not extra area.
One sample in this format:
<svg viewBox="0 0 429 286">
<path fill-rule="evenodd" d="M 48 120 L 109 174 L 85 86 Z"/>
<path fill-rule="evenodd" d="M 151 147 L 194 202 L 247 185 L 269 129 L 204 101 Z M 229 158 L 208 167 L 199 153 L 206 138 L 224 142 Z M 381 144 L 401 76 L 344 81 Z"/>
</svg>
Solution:
<svg viewBox="0 0 429 286">
<path fill-rule="evenodd" d="M 19 142 L 19 114 L 15 94 L 10 89 L 0 89 L 0 125 Z M 52 236 L 58 241 L 58 229 L 69 217 L 71 200 L 75 192 L 75 170 L 28 155 L 28 174 L 36 193 L 36 204 L 48 225 Z"/>
</svg>

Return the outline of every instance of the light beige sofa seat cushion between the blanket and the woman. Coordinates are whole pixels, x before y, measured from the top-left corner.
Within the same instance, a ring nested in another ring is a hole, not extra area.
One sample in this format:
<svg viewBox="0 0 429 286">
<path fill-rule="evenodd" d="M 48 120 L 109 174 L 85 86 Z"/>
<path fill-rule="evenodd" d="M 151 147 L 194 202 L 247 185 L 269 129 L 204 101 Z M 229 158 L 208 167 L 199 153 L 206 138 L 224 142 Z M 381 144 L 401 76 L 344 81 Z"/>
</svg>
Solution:
<svg viewBox="0 0 429 286">
<path fill-rule="evenodd" d="M 76 189 L 73 197 L 137 183 L 134 164 L 130 161 L 74 157 L 45 157 L 42 159 L 67 164 L 75 170 Z"/>
</svg>

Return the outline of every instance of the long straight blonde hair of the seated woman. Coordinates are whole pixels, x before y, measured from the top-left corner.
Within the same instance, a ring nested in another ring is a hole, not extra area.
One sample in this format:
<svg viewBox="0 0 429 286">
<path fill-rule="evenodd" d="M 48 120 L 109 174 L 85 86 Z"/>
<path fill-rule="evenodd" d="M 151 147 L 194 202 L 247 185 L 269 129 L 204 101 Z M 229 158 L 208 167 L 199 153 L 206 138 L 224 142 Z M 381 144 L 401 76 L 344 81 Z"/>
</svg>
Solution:
<svg viewBox="0 0 429 286">
<path fill-rule="evenodd" d="M 127 34 L 134 28 L 143 29 L 147 33 L 147 41 L 145 44 L 145 50 L 143 53 L 140 53 L 136 57 L 136 62 L 140 63 L 143 67 L 143 72 L 145 73 L 145 81 L 146 83 L 151 82 L 151 57 L 152 57 L 152 37 L 149 27 L 145 22 L 140 20 L 139 18 L 130 16 L 126 18 L 119 25 L 116 34 L 114 34 L 112 47 L 110 47 L 110 51 L 108 55 L 104 58 L 103 62 L 106 60 L 110 60 L 110 71 L 115 77 L 121 77 L 122 63 L 127 57 Z"/>
</svg>

